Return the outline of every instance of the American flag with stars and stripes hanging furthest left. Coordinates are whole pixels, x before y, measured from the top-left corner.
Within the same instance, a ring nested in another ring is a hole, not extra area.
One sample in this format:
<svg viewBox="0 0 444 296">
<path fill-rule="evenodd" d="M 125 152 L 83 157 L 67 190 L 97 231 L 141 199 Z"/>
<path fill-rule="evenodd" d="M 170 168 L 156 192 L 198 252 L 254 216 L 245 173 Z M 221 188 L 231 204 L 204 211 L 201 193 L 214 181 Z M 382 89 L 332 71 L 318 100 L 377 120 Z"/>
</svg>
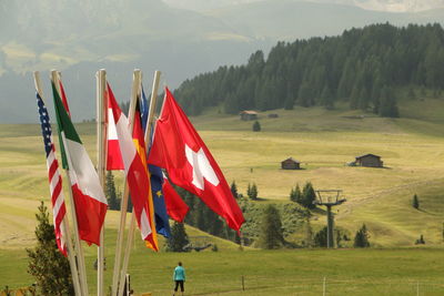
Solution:
<svg viewBox="0 0 444 296">
<path fill-rule="evenodd" d="M 56 147 L 52 143 L 51 124 L 49 122 L 48 110 L 44 106 L 43 100 L 37 93 L 37 105 L 39 108 L 40 123 L 47 152 L 47 166 L 49 174 L 49 187 L 51 192 L 52 214 L 56 232 L 56 241 L 60 252 L 67 256 L 67 247 L 64 244 L 64 235 L 62 234 L 61 224 L 67 214 L 64 197 L 62 192 L 62 177 L 59 171 L 59 162 L 56 159 Z"/>
</svg>

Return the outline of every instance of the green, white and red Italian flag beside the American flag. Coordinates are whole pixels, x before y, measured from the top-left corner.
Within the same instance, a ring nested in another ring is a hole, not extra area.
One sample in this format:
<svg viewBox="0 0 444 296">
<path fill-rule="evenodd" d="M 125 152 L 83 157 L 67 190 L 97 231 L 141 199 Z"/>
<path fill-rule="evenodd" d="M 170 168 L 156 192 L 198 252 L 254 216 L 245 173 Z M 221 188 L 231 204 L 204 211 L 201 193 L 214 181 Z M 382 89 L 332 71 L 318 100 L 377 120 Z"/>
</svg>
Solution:
<svg viewBox="0 0 444 296">
<path fill-rule="evenodd" d="M 63 169 L 69 170 L 69 178 L 74 198 L 80 238 L 89 245 L 100 245 L 100 231 L 108 208 L 99 175 L 88 156 L 82 141 L 52 83 L 52 94 Z"/>
</svg>

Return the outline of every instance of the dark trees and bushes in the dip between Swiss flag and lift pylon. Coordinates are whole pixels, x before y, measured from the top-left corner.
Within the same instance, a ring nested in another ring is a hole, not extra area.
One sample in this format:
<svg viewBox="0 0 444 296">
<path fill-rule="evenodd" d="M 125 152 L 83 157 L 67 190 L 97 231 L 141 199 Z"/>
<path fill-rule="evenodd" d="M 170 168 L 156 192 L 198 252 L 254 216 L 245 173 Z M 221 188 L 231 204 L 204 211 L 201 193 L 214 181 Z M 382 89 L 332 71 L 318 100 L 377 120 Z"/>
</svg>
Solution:
<svg viewBox="0 0 444 296">
<path fill-rule="evenodd" d="M 224 221 L 220 218 L 219 215 L 216 215 L 213 211 L 211 211 L 200 198 L 180 187 L 176 187 L 176 190 L 184 200 L 184 202 L 190 206 L 190 212 L 185 217 L 186 224 L 194 226 L 211 235 L 215 235 L 222 238 L 231 239 L 235 243 L 240 243 L 239 236 L 235 234 L 235 232 L 230 229 L 224 223 Z M 290 216 L 293 216 L 294 220 L 287 222 L 286 227 L 283 227 L 281 221 L 281 214 L 280 211 L 278 211 L 278 208 L 275 208 L 274 206 L 271 207 L 268 206 L 265 210 L 262 210 L 249 203 L 249 200 L 250 201 L 258 200 L 258 186 L 255 183 L 253 184 L 249 183 L 246 190 L 248 198 L 244 198 L 242 194 L 239 194 L 238 186 L 234 181 L 231 184 L 231 192 L 233 196 L 238 200 L 238 202 L 241 204 L 244 215 L 249 217 L 246 224 L 252 224 L 250 228 L 253 228 L 253 231 L 245 232 L 248 235 L 245 237 L 246 244 L 256 242 L 256 245 L 263 248 L 278 248 L 284 245 L 291 245 L 284 239 L 285 228 L 287 234 L 292 233 L 292 231 L 289 231 L 289 228 L 291 227 L 295 228 L 296 224 L 299 223 L 297 220 L 301 220 L 301 217 L 306 217 L 310 223 L 310 212 L 301 214 L 301 212 L 297 212 L 297 210 L 287 207 L 287 208 L 282 208 L 281 211 L 284 214 L 285 213 L 290 214 Z M 118 197 L 118 194 L 119 193 L 114 185 L 114 177 L 111 172 L 108 172 L 105 195 L 108 197 L 109 207 L 111 210 L 120 210 L 121 201 Z M 306 182 L 302 190 L 297 184 L 294 188 L 291 190 L 290 200 L 292 202 L 300 204 L 306 210 L 313 210 L 315 207 L 315 205 L 313 204 L 315 200 L 315 192 L 312 183 Z M 131 205 L 129 205 L 129 207 L 131 207 Z M 294 215 L 294 213 L 296 215 Z M 168 251 L 181 252 L 182 247 L 189 244 L 189 239 L 183 224 L 174 223 L 171 232 L 172 232 L 172 238 L 168 239 L 165 248 Z M 311 233 L 310 236 L 313 236 L 311 229 L 310 233 Z M 341 239 L 342 235 L 337 233 L 336 237 Z M 313 243 L 309 243 L 307 246 L 320 246 L 320 247 L 326 246 L 326 231 L 321 229 L 319 233 L 314 235 L 314 237 L 310 238 L 306 237 L 306 241 L 313 241 Z M 336 243 L 340 244 L 340 241 Z"/>
</svg>

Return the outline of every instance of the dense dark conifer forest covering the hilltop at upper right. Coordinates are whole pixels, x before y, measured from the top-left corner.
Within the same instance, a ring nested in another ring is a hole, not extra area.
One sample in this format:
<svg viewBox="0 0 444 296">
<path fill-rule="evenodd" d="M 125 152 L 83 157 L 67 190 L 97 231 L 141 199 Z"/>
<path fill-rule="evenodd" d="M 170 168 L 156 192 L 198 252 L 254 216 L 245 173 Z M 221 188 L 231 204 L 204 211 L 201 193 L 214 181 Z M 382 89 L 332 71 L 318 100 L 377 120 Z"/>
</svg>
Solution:
<svg viewBox="0 0 444 296">
<path fill-rule="evenodd" d="M 279 42 L 265 59 L 221 67 L 184 81 L 174 95 L 186 113 L 223 104 L 229 114 L 294 105 L 351 109 L 398 116 L 400 88 L 444 89 L 444 30 L 435 24 L 389 23 L 351 29 L 339 37 Z"/>
</svg>

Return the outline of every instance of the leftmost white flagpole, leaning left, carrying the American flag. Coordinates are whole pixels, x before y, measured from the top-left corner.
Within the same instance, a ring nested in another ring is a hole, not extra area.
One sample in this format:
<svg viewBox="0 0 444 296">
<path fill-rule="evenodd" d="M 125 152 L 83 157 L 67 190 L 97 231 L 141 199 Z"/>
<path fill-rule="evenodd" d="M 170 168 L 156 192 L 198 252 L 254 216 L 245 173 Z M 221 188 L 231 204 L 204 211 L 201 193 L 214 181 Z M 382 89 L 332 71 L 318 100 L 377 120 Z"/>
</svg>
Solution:
<svg viewBox="0 0 444 296">
<path fill-rule="evenodd" d="M 44 102 L 39 71 L 36 71 L 33 73 L 33 75 L 34 75 L 36 90 L 39 93 L 39 95 L 42 99 L 42 101 Z M 72 242 L 71 242 L 70 231 L 69 231 L 68 216 L 63 217 L 60 226 L 61 226 L 62 236 L 64 236 L 64 241 L 67 242 L 68 261 L 70 263 L 72 284 L 74 286 L 74 293 L 75 293 L 75 295 L 80 295 L 81 294 L 81 287 L 80 287 L 80 282 L 79 282 L 79 271 L 78 271 L 77 264 L 75 264 L 74 249 L 72 248 Z"/>
</svg>

